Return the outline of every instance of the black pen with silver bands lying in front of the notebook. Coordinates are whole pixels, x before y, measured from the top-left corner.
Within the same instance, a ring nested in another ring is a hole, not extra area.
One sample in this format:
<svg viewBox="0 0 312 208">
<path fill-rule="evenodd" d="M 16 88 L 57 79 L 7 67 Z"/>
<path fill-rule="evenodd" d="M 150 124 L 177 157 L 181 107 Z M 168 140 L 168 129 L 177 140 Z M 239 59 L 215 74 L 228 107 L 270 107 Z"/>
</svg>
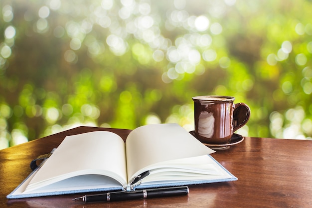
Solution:
<svg viewBox="0 0 312 208">
<path fill-rule="evenodd" d="M 158 188 L 158 189 L 144 189 L 139 191 L 123 191 L 123 192 L 111 192 L 107 194 L 98 195 L 85 195 L 73 199 L 77 202 L 113 202 L 122 200 L 135 200 L 135 199 L 148 199 L 156 197 L 173 197 L 188 195 L 188 187 L 170 187 L 170 188 Z"/>
</svg>

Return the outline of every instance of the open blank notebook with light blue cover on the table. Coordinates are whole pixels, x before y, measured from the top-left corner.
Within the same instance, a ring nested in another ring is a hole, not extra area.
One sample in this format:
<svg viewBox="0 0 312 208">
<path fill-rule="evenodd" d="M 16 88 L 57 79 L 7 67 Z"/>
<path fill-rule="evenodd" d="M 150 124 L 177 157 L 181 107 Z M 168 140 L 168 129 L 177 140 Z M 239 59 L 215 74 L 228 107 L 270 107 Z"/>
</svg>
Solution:
<svg viewBox="0 0 312 208">
<path fill-rule="evenodd" d="M 67 136 L 8 199 L 235 181 L 178 124 L 138 127 L 126 143 L 115 133 Z"/>
</svg>

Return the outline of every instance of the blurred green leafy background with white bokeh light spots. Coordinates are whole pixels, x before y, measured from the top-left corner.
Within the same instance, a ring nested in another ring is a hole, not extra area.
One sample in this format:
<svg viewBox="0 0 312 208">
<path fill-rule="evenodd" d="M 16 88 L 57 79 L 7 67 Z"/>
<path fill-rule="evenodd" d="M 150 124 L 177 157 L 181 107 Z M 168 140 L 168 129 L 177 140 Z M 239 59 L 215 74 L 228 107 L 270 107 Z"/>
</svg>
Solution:
<svg viewBox="0 0 312 208">
<path fill-rule="evenodd" d="M 80 125 L 193 130 L 230 95 L 243 136 L 312 139 L 311 0 L 1 0 L 0 149 Z"/>
</svg>

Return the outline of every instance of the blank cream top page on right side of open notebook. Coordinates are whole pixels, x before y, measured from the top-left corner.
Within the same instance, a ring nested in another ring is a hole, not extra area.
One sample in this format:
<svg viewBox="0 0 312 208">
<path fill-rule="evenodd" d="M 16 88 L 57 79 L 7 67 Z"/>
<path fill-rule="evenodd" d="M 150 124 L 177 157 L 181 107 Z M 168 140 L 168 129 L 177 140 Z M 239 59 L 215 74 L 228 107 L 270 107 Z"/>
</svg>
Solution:
<svg viewBox="0 0 312 208">
<path fill-rule="evenodd" d="M 178 124 L 153 124 L 133 130 L 126 140 L 128 180 L 163 161 L 214 153 Z"/>
</svg>

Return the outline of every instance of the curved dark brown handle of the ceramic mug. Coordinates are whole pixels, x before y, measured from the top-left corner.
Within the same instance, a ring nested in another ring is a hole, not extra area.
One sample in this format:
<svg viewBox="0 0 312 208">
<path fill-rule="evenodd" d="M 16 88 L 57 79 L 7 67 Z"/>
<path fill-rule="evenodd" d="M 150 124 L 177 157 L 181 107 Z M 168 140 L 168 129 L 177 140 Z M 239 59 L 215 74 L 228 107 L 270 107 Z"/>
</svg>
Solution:
<svg viewBox="0 0 312 208">
<path fill-rule="evenodd" d="M 243 127 L 250 118 L 250 108 L 245 103 L 235 103 L 233 110 L 233 132 Z"/>
</svg>

